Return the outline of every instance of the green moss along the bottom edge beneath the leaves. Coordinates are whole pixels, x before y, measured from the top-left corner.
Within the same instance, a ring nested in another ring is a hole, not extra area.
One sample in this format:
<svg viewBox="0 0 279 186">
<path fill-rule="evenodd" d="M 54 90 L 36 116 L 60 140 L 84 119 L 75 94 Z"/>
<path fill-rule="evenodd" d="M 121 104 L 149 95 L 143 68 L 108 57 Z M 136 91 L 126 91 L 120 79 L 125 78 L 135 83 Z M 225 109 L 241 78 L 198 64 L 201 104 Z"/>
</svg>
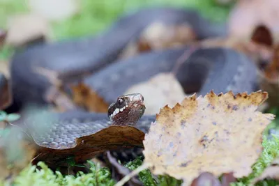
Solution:
<svg viewBox="0 0 279 186">
<path fill-rule="evenodd" d="M 264 169 L 271 164 L 275 157 L 279 155 L 279 138 L 274 137 L 267 140 L 264 137 L 262 143 L 264 150 L 257 162 L 252 166 L 252 173 L 245 178 L 241 178 L 238 182 L 233 183 L 234 186 L 249 185 L 253 178 L 259 176 Z M 77 173 L 77 176 L 63 176 L 59 171 L 53 172 L 48 169 L 43 162 L 39 162 L 38 166 L 27 166 L 15 178 L 13 185 L 114 185 L 116 182 L 112 180 L 111 173 L 106 168 L 99 168 L 96 164 L 89 161 L 89 173 Z M 142 165 L 142 158 L 124 164 L 130 170 L 135 170 Z M 144 170 L 139 173 L 139 178 L 148 186 L 172 186 L 181 185 L 181 180 L 176 180 L 170 176 L 153 176 L 149 170 Z M 1 185 L 7 183 L 2 182 Z M 257 185 L 276 185 L 275 180 L 264 180 Z"/>
</svg>

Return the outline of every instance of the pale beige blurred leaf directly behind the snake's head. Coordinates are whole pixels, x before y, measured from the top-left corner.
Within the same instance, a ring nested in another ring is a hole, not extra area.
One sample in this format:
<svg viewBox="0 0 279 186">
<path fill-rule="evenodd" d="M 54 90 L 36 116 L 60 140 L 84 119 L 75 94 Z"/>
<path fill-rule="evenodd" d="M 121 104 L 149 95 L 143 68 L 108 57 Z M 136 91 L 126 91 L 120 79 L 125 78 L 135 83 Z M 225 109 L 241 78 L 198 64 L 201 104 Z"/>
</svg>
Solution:
<svg viewBox="0 0 279 186">
<path fill-rule="evenodd" d="M 157 114 L 166 104 L 174 106 L 185 97 L 183 88 L 172 73 L 160 73 L 146 82 L 135 84 L 124 94 L 141 93 L 144 96 L 145 114 Z"/>
</svg>

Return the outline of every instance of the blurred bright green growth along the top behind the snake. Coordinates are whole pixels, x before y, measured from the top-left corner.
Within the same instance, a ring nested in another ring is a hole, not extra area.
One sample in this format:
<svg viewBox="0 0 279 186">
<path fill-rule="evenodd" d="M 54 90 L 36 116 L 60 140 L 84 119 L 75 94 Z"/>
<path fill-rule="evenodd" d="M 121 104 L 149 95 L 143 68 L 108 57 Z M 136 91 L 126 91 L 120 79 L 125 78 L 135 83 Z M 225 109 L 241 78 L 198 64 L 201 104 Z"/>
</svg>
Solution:
<svg viewBox="0 0 279 186">
<path fill-rule="evenodd" d="M 27 13 L 28 7 L 24 0 L 0 1 L 0 27 L 6 28 L 10 15 Z M 231 6 L 218 6 L 214 0 L 81 0 L 81 10 L 63 22 L 53 23 L 54 38 L 60 40 L 76 36 L 86 36 L 102 31 L 122 13 L 146 6 L 179 6 L 192 7 L 216 21 L 224 21 Z"/>
</svg>

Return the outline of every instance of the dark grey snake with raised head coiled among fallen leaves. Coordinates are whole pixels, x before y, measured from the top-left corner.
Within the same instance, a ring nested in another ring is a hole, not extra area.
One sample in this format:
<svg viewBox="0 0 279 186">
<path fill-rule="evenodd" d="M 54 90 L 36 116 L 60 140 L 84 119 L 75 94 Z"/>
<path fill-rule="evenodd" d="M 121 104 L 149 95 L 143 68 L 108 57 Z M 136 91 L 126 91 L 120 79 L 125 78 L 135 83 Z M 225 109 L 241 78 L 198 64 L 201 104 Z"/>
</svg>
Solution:
<svg viewBox="0 0 279 186">
<path fill-rule="evenodd" d="M 52 123 L 19 121 L 29 123 L 29 132 L 41 148 L 37 160 L 56 162 L 73 155 L 77 162 L 82 162 L 104 150 L 142 146 L 144 133 L 148 132 L 156 117 L 142 116 L 142 95 L 123 93 L 131 85 L 144 82 L 153 75 L 171 72 L 175 61 L 189 46 L 146 52 L 125 60 L 115 59 L 130 40 L 137 39 L 144 27 L 156 20 L 172 24 L 190 22 L 198 38 L 220 35 L 191 10 L 153 8 L 121 17 L 109 31 L 93 39 L 39 45 L 15 54 L 10 66 L 13 107 L 21 108 L 29 102 L 45 104 L 43 95 L 51 83 L 34 72 L 33 67 L 67 72 L 88 70 L 91 75 L 83 83 L 110 104 L 108 115 L 74 110 L 56 114 L 57 120 Z M 197 92 L 198 95 L 205 95 L 211 90 L 215 93 L 250 93 L 257 90 L 255 64 L 248 56 L 233 49 L 197 49 L 187 63 L 184 61 L 179 67 L 176 78 L 184 91 Z M 133 127 L 118 131 L 119 125 Z M 40 132 L 42 126 L 43 133 Z M 116 131 L 107 131 L 107 127 Z M 142 136 L 133 139 L 133 132 L 142 132 Z M 92 134 L 100 134 L 97 135 L 99 140 L 96 137 L 93 139 L 94 144 L 90 143 L 92 139 L 88 139 Z M 81 143 L 78 148 L 75 148 L 75 139 Z M 127 139 L 132 142 L 127 144 Z"/>
</svg>

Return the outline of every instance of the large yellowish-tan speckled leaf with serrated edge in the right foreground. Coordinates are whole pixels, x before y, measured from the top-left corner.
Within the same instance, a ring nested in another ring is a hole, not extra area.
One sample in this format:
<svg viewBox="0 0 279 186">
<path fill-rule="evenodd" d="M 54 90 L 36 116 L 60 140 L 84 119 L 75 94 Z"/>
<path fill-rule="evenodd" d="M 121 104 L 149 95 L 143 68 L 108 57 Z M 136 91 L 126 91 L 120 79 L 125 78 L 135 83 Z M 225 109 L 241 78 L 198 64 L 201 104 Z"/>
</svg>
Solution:
<svg viewBox="0 0 279 186">
<path fill-rule="evenodd" d="M 262 91 L 211 91 L 204 98 L 185 98 L 172 109 L 165 106 L 145 135 L 144 163 L 152 173 L 167 173 L 184 185 L 202 172 L 247 176 L 262 153 L 262 132 L 275 117 L 256 111 L 267 98 Z"/>
</svg>

